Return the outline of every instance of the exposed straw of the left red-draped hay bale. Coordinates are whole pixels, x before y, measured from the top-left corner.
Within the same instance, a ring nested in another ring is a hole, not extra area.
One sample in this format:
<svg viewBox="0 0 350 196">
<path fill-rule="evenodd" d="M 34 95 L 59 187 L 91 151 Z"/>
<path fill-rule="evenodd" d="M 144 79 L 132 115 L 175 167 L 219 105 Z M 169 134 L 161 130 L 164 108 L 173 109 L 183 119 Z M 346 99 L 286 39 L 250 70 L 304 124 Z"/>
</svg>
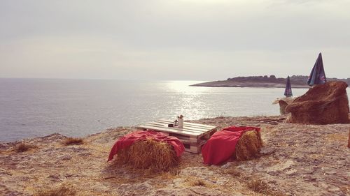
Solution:
<svg viewBox="0 0 350 196">
<path fill-rule="evenodd" d="M 116 161 L 151 172 L 164 172 L 179 165 L 180 159 L 172 145 L 148 139 L 134 142 L 129 148 L 118 151 Z"/>
</svg>

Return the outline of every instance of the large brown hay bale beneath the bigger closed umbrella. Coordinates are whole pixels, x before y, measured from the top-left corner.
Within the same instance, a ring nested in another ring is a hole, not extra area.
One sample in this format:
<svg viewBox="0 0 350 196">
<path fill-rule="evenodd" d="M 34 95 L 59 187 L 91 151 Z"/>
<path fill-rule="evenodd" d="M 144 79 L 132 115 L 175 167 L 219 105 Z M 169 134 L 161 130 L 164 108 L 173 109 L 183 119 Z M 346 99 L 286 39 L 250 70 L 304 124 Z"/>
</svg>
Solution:
<svg viewBox="0 0 350 196">
<path fill-rule="evenodd" d="M 330 124 L 349 123 L 349 100 L 345 82 L 318 84 L 286 107 L 290 122 Z"/>
</svg>

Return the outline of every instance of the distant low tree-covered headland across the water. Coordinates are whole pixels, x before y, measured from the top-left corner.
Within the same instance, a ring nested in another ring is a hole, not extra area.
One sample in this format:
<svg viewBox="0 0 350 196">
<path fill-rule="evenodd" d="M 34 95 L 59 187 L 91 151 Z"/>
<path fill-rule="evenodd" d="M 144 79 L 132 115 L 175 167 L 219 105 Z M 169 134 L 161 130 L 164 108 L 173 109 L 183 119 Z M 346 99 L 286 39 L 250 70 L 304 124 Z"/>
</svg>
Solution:
<svg viewBox="0 0 350 196">
<path fill-rule="evenodd" d="M 292 88 L 309 88 L 307 85 L 307 76 L 293 75 L 290 77 Z M 343 81 L 350 84 L 350 78 L 337 79 L 327 78 L 327 81 Z M 248 76 L 248 77 L 232 77 L 228 80 L 218 80 L 213 82 L 204 82 L 199 84 L 192 84 L 190 86 L 209 86 L 209 87 L 272 87 L 285 88 L 287 78 L 270 76 Z"/>
</svg>

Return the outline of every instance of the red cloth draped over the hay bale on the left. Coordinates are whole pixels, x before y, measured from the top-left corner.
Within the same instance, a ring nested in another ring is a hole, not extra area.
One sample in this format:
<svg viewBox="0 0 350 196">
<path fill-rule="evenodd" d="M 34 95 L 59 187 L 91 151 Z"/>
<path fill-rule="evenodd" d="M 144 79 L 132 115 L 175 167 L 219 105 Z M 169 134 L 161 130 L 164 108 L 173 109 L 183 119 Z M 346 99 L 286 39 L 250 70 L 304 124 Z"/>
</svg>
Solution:
<svg viewBox="0 0 350 196">
<path fill-rule="evenodd" d="M 176 137 L 167 136 L 164 133 L 156 132 L 153 130 L 139 130 L 120 137 L 113 145 L 111 152 L 109 153 L 109 160 L 112 160 L 120 149 L 126 149 L 127 147 L 134 144 L 134 142 L 147 139 L 153 139 L 157 142 L 167 142 L 168 144 L 174 146 L 174 151 L 178 157 L 181 156 L 183 151 L 185 151 L 185 146 L 183 146 L 182 142 Z"/>
</svg>

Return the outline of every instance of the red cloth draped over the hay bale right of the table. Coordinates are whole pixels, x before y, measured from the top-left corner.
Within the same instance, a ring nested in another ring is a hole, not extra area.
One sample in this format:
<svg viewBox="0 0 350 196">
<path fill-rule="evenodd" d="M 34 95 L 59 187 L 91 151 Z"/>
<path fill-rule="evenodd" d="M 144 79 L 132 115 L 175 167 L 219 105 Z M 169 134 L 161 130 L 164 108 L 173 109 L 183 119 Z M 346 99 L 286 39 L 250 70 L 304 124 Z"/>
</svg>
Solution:
<svg viewBox="0 0 350 196">
<path fill-rule="evenodd" d="M 214 133 L 207 144 L 202 147 L 203 161 L 207 165 L 221 165 L 235 153 L 236 144 L 248 130 L 260 131 L 260 128 L 249 126 L 230 126 Z"/>
</svg>

